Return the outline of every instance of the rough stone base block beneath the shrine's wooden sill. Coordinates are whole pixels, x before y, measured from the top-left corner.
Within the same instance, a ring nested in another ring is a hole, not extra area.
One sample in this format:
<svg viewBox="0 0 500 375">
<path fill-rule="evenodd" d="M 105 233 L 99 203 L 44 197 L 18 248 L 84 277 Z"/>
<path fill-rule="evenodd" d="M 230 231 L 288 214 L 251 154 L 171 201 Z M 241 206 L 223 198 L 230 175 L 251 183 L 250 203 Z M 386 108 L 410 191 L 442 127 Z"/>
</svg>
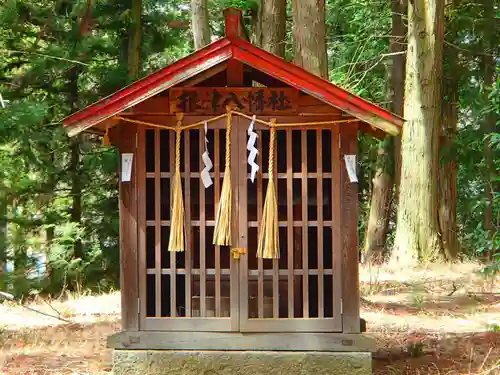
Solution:
<svg viewBox="0 0 500 375">
<path fill-rule="evenodd" d="M 115 375 L 371 375 L 371 353 L 114 350 Z"/>
</svg>

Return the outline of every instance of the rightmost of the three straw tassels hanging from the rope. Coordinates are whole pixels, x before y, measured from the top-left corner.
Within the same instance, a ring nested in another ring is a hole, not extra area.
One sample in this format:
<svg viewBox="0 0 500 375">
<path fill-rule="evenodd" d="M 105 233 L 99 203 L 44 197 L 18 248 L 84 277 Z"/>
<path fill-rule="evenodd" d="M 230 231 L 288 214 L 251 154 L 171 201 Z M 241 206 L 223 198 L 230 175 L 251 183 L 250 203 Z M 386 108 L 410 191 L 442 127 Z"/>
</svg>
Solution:
<svg viewBox="0 0 500 375">
<path fill-rule="evenodd" d="M 278 231 L 278 201 L 274 183 L 274 161 L 276 129 L 274 120 L 271 120 L 271 140 L 269 142 L 269 183 L 267 185 L 266 200 L 260 223 L 259 246 L 257 257 L 277 259 L 280 257 L 279 231 Z"/>
</svg>

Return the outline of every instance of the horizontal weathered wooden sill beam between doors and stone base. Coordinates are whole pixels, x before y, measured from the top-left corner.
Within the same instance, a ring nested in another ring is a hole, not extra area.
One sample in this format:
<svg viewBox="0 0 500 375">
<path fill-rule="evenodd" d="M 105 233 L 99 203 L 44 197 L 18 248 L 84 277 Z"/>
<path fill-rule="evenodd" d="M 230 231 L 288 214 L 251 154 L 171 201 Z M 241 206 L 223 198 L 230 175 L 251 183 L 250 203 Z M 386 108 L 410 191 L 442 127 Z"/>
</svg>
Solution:
<svg viewBox="0 0 500 375">
<path fill-rule="evenodd" d="M 371 352 L 375 340 L 342 333 L 120 332 L 108 338 L 115 349 L 265 350 Z"/>
</svg>

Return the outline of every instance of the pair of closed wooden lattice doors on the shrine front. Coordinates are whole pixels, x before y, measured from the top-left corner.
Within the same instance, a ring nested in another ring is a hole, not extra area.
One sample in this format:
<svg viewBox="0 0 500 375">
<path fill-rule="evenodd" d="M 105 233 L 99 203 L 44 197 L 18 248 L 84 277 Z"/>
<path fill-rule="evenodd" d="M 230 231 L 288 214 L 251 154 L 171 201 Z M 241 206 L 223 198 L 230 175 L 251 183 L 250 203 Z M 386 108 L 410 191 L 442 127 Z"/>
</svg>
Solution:
<svg viewBox="0 0 500 375">
<path fill-rule="evenodd" d="M 167 251 L 175 133 L 139 131 L 138 196 L 140 329 L 166 331 L 337 332 L 342 330 L 338 128 L 278 130 L 276 187 L 280 259 L 257 259 L 257 239 L 268 181 L 269 130 L 258 128 L 257 179 L 249 179 L 248 120 L 233 118 L 231 164 L 233 238 L 247 249 L 212 244 L 224 175 L 225 122 L 207 137 L 214 184 L 205 188 L 204 132 L 182 132 L 181 177 L 186 251 Z"/>
</svg>

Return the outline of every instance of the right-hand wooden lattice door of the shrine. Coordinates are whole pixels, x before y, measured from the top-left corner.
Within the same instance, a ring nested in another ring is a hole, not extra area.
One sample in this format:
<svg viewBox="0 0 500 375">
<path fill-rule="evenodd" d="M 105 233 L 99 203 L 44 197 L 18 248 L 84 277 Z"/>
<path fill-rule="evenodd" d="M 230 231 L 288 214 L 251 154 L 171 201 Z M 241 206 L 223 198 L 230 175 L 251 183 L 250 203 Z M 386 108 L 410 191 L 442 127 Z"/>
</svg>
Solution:
<svg viewBox="0 0 500 375">
<path fill-rule="evenodd" d="M 339 202 L 339 132 L 278 130 L 275 186 L 280 259 L 257 259 L 257 239 L 268 181 L 270 132 L 258 130 L 260 171 L 252 183 L 240 168 L 240 330 L 342 331 L 340 249 L 334 246 L 333 204 Z M 240 160 L 246 160 L 241 147 Z"/>
</svg>

